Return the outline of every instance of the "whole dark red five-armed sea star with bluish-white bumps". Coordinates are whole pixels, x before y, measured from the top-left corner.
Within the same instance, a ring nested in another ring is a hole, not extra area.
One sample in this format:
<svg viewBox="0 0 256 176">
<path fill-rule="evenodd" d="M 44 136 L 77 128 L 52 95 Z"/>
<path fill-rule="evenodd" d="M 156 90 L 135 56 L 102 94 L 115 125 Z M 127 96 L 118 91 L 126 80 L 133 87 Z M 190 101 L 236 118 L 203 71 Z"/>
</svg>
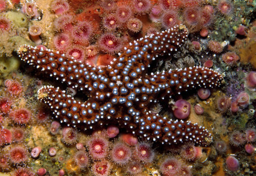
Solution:
<svg viewBox="0 0 256 176">
<path fill-rule="evenodd" d="M 219 73 L 199 66 L 146 73 L 152 60 L 177 51 L 187 36 L 184 25 L 145 36 L 129 43 L 110 66 L 103 68 L 84 65 L 50 49 L 24 45 L 18 53 L 23 61 L 56 80 L 89 91 L 89 99 L 83 103 L 59 88 L 44 86 L 38 90 L 38 99 L 51 107 L 61 123 L 84 130 L 115 124 L 147 140 L 169 144 L 193 141 L 206 146 L 212 137 L 204 127 L 169 120 L 150 110 L 156 102 L 181 91 L 220 86 L 223 78 Z"/>
</svg>

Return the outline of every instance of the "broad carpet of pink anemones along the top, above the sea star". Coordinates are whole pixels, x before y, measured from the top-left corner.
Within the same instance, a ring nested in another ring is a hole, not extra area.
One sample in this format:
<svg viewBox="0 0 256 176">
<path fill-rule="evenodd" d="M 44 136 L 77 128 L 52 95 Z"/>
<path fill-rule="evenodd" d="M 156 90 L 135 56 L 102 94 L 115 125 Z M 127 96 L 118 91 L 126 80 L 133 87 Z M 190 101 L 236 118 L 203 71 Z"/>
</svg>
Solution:
<svg viewBox="0 0 256 176">
<path fill-rule="evenodd" d="M 216 9 L 229 11 L 228 2 L 221 1 Z M 99 0 L 90 7 L 81 7 L 82 13 L 74 15 L 72 3 L 66 0 L 51 3 L 51 12 L 57 15 L 53 45 L 56 50 L 92 66 L 106 66 L 107 62 L 98 61 L 99 56 L 122 52 L 127 41 L 150 34 L 155 26 L 158 26 L 155 32 L 159 32 L 161 28 L 184 23 L 190 32 L 202 30 L 202 36 L 206 37 L 216 11 L 200 0 Z M 214 44 L 209 44 L 210 50 L 214 50 L 211 45 Z M 91 47 L 94 52 L 90 52 Z"/>
</svg>

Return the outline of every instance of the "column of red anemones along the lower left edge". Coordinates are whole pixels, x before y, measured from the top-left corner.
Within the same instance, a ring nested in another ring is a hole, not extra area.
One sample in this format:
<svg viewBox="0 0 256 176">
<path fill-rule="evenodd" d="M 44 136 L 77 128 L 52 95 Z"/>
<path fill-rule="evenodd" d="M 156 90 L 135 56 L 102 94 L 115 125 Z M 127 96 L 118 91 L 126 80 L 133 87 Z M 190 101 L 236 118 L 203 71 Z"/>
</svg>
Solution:
<svg viewBox="0 0 256 176">
<path fill-rule="evenodd" d="M 37 157 L 41 148 L 35 147 L 29 154 L 26 145 L 33 113 L 23 98 L 26 89 L 15 79 L 5 80 L 4 86 L 4 96 L 0 96 L 0 171 L 11 172 L 12 176 L 34 176 L 28 160 Z M 39 110 L 36 120 L 43 122 L 47 117 L 45 110 Z"/>
</svg>

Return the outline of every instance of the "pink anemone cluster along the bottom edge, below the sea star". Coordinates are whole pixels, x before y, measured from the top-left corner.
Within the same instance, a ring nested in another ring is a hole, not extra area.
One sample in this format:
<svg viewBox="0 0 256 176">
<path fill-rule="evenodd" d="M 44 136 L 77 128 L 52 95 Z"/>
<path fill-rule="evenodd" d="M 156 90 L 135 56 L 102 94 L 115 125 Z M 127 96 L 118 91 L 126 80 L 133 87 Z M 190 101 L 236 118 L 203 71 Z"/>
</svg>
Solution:
<svg viewBox="0 0 256 176">
<path fill-rule="evenodd" d="M 183 145 L 178 151 L 182 159 L 169 155 L 163 160 L 155 160 L 152 143 L 138 142 L 138 139 L 129 133 L 118 133 L 117 127 L 109 126 L 106 130 L 94 131 L 86 141 L 77 138 L 78 141 L 70 146 L 76 146 L 77 151 L 67 162 L 73 163 L 73 168 L 76 168 L 78 173 L 89 169 L 93 176 L 108 176 L 118 168 L 122 173 L 129 175 L 143 175 L 147 173 L 143 168 L 153 167 L 154 164 L 159 166 L 159 172 L 164 175 L 186 173 L 187 176 L 192 176 L 187 162 L 202 155 L 201 147 L 189 144 Z M 171 165 L 173 169 L 170 169 Z M 68 173 L 73 172 L 68 167 L 66 169 Z"/>
</svg>

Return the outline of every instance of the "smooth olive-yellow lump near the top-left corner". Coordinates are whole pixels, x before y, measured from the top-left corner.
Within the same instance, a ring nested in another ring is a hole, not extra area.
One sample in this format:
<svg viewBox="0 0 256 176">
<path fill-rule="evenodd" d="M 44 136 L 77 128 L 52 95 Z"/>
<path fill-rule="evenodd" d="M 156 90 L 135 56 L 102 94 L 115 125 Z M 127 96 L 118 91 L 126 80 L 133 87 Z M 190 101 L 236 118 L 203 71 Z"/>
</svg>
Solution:
<svg viewBox="0 0 256 176">
<path fill-rule="evenodd" d="M 21 12 L 13 12 L 9 11 L 6 13 L 6 17 L 13 23 L 13 25 L 17 28 L 19 27 L 27 27 L 28 20 L 26 16 Z"/>
</svg>

